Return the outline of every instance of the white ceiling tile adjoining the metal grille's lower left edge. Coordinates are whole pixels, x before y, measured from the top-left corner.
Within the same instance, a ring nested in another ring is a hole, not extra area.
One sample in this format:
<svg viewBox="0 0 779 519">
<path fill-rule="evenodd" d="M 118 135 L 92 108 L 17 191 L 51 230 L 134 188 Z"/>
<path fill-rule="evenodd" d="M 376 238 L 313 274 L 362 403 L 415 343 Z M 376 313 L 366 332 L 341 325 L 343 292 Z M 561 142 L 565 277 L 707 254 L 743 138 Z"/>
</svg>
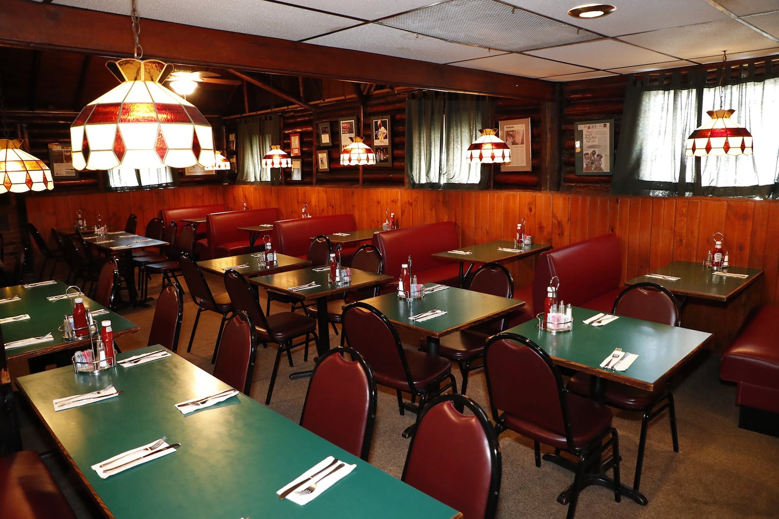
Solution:
<svg viewBox="0 0 779 519">
<path fill-rule="evenodd" d="M 306 43 L 327 47 L 351 48 L 356 51 L 418 59 L 423 62 L 448 63 L 483 58 L 497 54 L 486 48 L 450 43 L 421 36 L 407 30 L 368 24 L 316 37 Z"/>
</svg>

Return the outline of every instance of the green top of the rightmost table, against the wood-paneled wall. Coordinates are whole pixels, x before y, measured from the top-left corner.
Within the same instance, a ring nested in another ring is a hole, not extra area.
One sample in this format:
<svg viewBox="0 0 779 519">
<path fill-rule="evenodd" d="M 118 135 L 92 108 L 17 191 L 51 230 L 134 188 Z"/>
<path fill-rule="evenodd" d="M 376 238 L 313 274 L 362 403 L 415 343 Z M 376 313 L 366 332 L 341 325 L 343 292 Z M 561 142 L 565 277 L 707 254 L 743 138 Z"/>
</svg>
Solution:
<svg viewBox="0 0 779 519">
<path fill-rule="evenodd" d="M 636 284 L 648 281 L 668 288 L 668 290 L 675 295 L 688 295 L 693 298 L 728 301 L 763 275 L 763 270 L 742 267 L 728 267 L 727 269 L 724 269 L 724 272 L 749 274 L 749 277 L 738 279 L 737 277 L 714 275 L 714 270 L 710 267 L 703 267 L 701 263 L 675 261 L 665 267 L 650 270 L 647 274 L 664 274 L 666 276 L 681 278 L 678 281 L 639 276 L 626 281 L 625 284 Z"/>
</svg>

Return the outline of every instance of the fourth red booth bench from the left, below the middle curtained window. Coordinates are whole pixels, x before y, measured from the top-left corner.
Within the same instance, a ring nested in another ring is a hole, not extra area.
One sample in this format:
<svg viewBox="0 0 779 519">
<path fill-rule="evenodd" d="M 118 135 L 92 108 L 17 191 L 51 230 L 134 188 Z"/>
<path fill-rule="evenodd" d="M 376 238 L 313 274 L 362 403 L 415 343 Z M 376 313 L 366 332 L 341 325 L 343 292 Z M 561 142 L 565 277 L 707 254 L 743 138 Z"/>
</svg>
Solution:
<svg viewBox="0 0 779 519">
<path fill-rule="evenodd" d="M 419 283 L 441 283 L 456 287 L 460 284 L 460 264 L 438 260 L 431 255 L 460 247 L 457 225 L 453 221 L 416 225 L 377 232 L 373 245 L 382 253 L 382 274 L 400 277 L 400 265 L 408 263 L 411 255 L 411 274 Z"/>
</svg>

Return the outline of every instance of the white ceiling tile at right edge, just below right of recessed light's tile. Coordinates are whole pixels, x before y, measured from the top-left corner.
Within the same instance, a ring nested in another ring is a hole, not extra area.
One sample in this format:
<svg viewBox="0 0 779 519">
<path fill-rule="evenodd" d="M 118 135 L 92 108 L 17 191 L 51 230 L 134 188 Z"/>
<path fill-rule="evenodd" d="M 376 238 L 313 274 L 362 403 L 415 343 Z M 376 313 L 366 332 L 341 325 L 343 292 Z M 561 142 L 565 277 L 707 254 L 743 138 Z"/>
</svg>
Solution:
<svg viewBox="0 0 779 519">
<path fill-rule="evenodd" d="M 631 34 L 620 39 L 682 59 L 722 55 L 722 51 L 731 54 L 776 45 L 776 42 L 738 23 L 735 19 Z"/>
</svg>

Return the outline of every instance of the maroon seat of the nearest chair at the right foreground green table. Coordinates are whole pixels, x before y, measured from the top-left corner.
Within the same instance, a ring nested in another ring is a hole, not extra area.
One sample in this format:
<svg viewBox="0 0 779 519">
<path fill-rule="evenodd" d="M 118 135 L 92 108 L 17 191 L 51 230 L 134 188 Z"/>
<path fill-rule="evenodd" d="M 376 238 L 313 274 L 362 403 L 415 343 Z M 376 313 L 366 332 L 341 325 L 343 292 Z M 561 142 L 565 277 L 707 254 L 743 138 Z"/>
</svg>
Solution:
<svg viewBox="0 0 779 519">
<path fill-rule="evenodd" d="M 597 404 L 588 398 L 576 394 L 566 394 L 568 399 L 568 415 L 573 429 L 573 447 L 579 449 L 612 426 L 612 410 L 605 405 Z M 541 443 L 568 449 L 565 431 L 556 433 L 514 415 L 502 415 L 506 427 L 517 433 L 538 440 Z"/>
</svg>

